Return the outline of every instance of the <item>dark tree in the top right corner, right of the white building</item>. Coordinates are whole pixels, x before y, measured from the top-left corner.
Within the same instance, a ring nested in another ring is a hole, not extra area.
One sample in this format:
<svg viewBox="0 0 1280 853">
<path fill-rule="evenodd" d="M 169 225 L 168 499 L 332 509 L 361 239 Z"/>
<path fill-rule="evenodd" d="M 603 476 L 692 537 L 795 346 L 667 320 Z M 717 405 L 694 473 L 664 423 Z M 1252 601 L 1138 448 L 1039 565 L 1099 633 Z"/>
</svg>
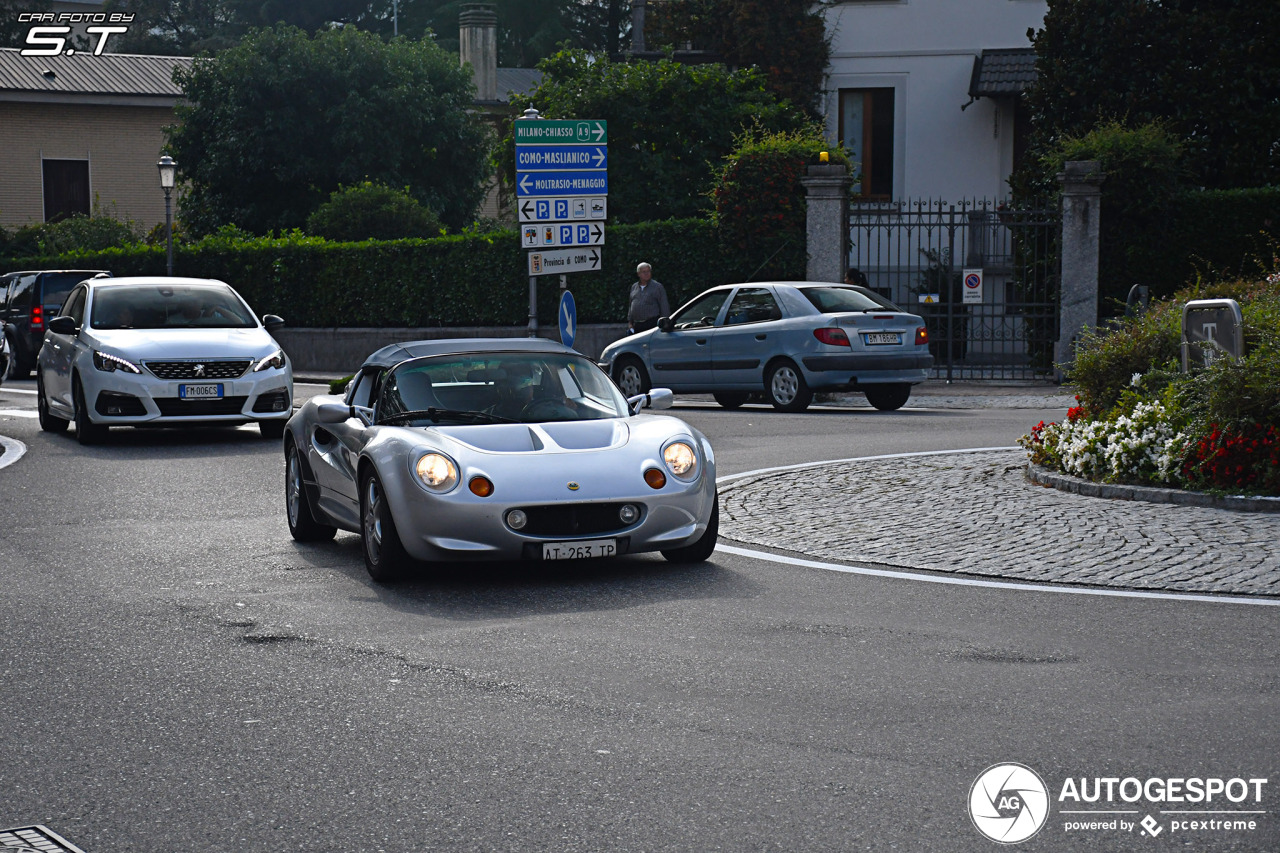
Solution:
<svg viewBox="0 0 1280 853">
<path fill-rule="evenodd" d="M 1108 120 L 1160 120 L 1185 141 L 1197 183 L 1280 182 L 1275 0 L 1050 0 L 1029 35 L 1033 152 Z"/>
</svg>

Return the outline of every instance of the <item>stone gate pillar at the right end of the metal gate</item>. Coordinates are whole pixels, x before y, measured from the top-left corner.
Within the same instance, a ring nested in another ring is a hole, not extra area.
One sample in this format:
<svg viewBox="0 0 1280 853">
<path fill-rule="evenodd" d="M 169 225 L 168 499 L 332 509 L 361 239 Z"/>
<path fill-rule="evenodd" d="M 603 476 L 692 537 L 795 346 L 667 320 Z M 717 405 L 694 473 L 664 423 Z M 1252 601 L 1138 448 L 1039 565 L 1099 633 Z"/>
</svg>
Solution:
<svg viewBox="0 0 1280 853">
<path fill-rule="evenodd" d="M 1075 343 L 1085 327 L 1098 324 L 1098 255 L 1102 181 L 1097 160 L 1066 164 L 1057 175 L 1062 184 L 1062 288 L 1060 324 L 1053 362 L 1070 365 Z M 1059 369 L 1061 379 L 1061 368 Z"/>
</svg>

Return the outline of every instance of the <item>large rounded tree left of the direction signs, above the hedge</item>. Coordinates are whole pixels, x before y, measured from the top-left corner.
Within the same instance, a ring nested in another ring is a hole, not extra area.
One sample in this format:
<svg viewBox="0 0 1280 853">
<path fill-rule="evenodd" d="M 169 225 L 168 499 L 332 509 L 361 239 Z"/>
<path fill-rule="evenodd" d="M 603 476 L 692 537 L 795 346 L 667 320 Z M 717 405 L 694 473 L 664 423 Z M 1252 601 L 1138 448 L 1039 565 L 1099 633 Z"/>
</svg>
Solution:
<svg viewBox="0 0 1280 853">
<path fill-rule="evenodd" d="M 483 197 L 489 145 L 467 111 L 471 81 L 429 41 L 259 29 L 178 82 L 187 102 L 168 128 L 169 152 L 197 236 L 223 224 L 301 228 L 358 181 L 408 187 L 451 228 L 470 223 Z"/>
</svg>

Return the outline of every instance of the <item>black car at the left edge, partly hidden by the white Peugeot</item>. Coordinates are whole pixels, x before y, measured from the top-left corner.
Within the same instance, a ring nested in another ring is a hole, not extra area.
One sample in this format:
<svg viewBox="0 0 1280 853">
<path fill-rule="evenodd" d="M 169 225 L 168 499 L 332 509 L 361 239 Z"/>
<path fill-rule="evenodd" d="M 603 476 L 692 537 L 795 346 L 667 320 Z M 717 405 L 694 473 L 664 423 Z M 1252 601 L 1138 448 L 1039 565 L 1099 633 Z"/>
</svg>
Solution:
<svg viewBox="0 0 1280 853">
<path fill-rule="evenodd" d="M 101 269 L 46 269 L 0 275 L 0 324 L 9 341 L 9 366 L 5 379 L 26 379 L 36 366 L 36 353 L 45 339 L 45 327 L 70 289 L 95 275 L 110 275 Z"/>
</svg>

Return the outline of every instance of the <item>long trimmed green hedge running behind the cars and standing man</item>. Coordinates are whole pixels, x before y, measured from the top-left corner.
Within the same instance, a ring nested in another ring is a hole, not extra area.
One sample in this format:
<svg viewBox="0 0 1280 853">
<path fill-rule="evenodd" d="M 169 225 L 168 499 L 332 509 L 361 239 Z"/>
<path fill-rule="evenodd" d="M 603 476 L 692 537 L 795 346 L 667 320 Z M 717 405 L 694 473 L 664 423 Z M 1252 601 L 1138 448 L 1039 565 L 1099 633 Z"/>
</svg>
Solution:
<svg viewBox="0 0 1280 853">
<path fill-rule="evenodd" d="M 568 287 L 581 323 L 622 323 L 635 266 L 653 264 L 672 307 L 703 289 L 746 280 L 765 257 L 726 248 L 716 227 L 685 219 L 609 225 L 599 273 L 575 273 Z M 174 273 L 228 282 L 260 314 L 292 327 L 524 325 L 529 318 L 525 250 L 515 231 L 436 240 L 330 243 L 210 237 L 174 247 Z M 803 259 L 801 259 L 803 260 Z M 163 275 L 163 246 L 129 246 L 56 257 L 0 261 L 4 269 L 109 269 Z M 785 270 L 804 278 L 804 269 Z M 558 277 L 540 277 L 540 321 L 556 316 Z"/>
</svg>

